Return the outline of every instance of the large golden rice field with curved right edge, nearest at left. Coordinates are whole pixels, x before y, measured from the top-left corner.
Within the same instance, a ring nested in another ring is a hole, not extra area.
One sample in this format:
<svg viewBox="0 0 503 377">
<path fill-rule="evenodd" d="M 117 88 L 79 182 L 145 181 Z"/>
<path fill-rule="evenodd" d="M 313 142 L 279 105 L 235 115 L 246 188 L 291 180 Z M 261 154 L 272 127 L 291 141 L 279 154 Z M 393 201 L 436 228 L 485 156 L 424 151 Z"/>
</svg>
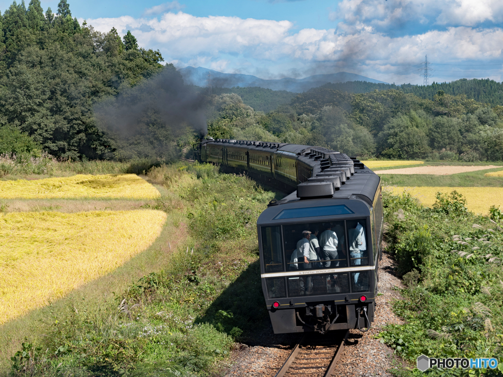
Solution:
<svg viewBox="0 0 503 377">
<path fill-rule="evenodd" d="M 165 220 L 154 210 L 0 213 L 0 324 L 119 267 Z"/>
</svg>

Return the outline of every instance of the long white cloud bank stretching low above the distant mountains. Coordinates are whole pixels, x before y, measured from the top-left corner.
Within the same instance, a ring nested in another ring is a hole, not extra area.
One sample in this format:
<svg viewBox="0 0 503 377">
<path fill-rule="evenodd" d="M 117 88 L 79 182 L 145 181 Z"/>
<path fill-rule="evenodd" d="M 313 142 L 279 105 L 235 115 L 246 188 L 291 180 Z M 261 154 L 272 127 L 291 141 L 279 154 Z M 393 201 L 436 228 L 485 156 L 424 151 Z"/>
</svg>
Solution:
<svg viewBox="0 0 503 377">
<path fill-rule="evenodd" d="M 228 72 L 246 67 L 245 73 L 256 70 L 253 73 L 262 71 L 268 75 L 274 71 L 278 74 L 289 69 L 310 69 L 318 73 L 346 70 L 376 76 L 396 70 L 397 66 L 415 65 L 423 61 L 425 54 L 436 62 L 503 57 L 501 28 L 447 27 L 393 37 L 358 19 L 346 30 L 296 31 L 289 21 L 195 17 L 183 12 L 166 13 L 160 19 L 123 16 L 88 23 L 102 32 L 112 27 L 120 34 L 131 30 L 140 46 L 158 48 L 166 61 L 177 66 L 206 66 Z"/>
</svg>

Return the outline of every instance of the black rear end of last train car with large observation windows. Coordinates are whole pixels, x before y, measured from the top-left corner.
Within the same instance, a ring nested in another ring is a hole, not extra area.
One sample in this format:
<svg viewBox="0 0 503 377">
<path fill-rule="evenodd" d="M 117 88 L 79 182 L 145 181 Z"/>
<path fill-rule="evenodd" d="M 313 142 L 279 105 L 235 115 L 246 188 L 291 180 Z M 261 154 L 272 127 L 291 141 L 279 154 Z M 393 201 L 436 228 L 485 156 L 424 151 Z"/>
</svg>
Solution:
<svg viewBox="0 0 503 377">
<path fill-rule="evenodd" d="M 288 198 L 294 199 L 269 207 L 258 220 L 262 287 L 274 332 L 368 330 L 379 263 L 372 206 L 360 199 Z M 321 249 L 304 263 L 297 246 L 307 234 Z M 331 244 L 336 249 L 323 250 L 327 234 L 337 239 Z"/>
</svg>

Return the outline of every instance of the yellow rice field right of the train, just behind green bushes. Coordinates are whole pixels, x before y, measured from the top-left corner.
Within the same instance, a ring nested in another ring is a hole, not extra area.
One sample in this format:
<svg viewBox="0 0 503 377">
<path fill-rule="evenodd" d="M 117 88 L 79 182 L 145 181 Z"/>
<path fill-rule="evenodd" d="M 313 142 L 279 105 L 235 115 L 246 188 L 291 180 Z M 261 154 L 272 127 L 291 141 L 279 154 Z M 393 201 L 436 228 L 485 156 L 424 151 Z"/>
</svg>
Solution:
<svg viewBox="0 0 503 377">
<path fill-rule="evenodd" d="M 491 206 L 503 206 L 503 187 L 403 187 L 389 186 L 393 194 L 401 194 L 405 190 L 417 198 L 423 205 L 432 207 L 437 192 L 449 194 L 456 190 L 466 198 L 468 210 L 480 215 L 487 215 Z"/>
</svg>

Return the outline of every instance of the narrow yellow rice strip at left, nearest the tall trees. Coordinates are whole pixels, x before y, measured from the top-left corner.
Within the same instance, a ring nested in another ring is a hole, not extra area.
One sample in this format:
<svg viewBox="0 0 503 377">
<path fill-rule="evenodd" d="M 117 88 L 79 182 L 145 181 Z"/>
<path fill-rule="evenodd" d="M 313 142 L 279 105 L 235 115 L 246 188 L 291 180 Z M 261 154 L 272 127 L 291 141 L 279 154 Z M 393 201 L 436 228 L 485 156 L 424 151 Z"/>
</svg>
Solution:
<svg viewBox="0 0 503 377">
<path fill-rule="evenodd" d="M 136 174 L 73 175 L 0 181 L 3 199 L 127 198 L 153 199 L 157 189 Z"/>
</svg>

